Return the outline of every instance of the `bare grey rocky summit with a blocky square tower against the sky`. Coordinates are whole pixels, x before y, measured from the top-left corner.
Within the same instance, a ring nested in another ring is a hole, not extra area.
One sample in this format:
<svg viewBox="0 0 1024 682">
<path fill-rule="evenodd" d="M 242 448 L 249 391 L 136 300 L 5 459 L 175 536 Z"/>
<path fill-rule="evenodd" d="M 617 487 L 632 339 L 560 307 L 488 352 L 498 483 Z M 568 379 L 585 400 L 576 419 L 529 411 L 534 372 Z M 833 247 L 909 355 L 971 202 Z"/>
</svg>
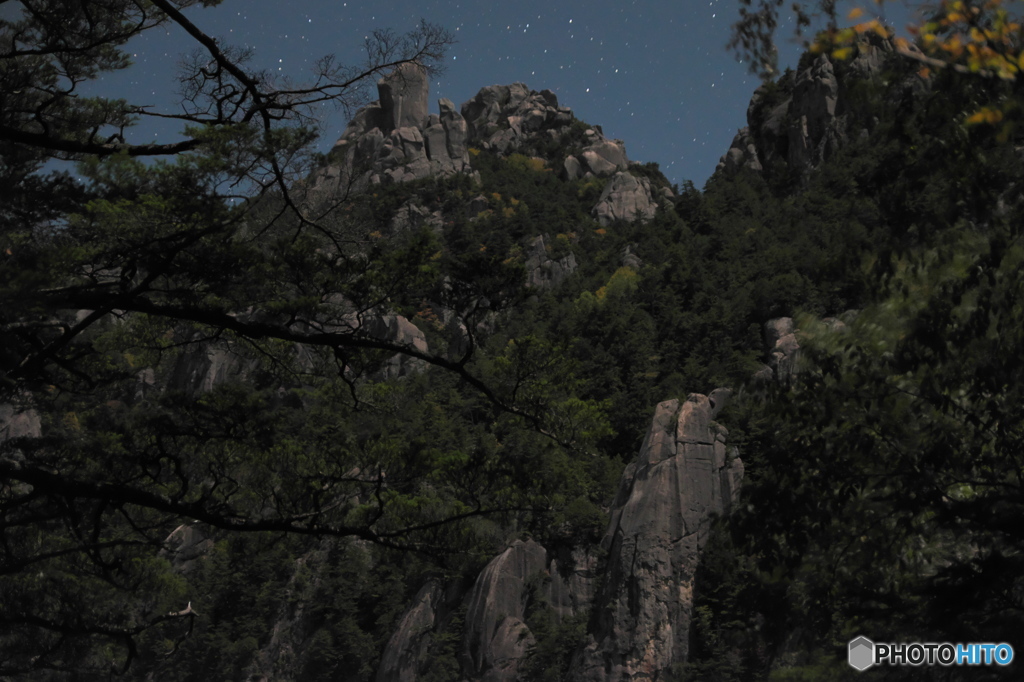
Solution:
<svg viewBox="0 0 1024 682">
<path fill-rule="evenodd" d="M 535 154 L 559 145 L 573 154 L 543 161 L 568 181 L 607 179 L 592 214 L 601 224 L 649 220 L 671 190 L 655 191 L 630 171 L 626 144 L 600 126 L 586 126 L 551 90 L 523 83 L 481 88 L 458 110 L 438 100 L 428 109 L 429 80 L 415 62 L 402 65 L 378 83 L 379 98 L 356 112 L 332 152 L 334 163 L 311 178 L 313 197 L 336 198 L 376 184 L 471 173 L 470 148 L 499 156 Z"/>
</svg>

